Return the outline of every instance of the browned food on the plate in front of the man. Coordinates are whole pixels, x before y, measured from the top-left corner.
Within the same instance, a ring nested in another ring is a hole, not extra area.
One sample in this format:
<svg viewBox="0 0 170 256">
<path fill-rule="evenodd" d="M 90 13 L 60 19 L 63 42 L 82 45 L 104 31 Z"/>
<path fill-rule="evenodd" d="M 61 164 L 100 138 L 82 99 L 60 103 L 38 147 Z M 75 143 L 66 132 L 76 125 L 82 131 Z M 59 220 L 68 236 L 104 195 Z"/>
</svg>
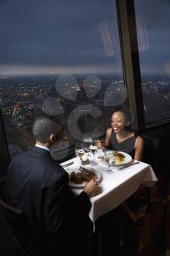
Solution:
<svg viewBox="0 0 170 256">
<path fill-rule="evenodd" d="M 75 173 L 72 171 L 69 175 L 69 180 L 74 184 L 82 184 L 83 181 L 90 181 L 96 175 L 93 173 L 93 170 L 88 170 L 83 167 L 80 167 L 80 172 Z"/>
</svg>

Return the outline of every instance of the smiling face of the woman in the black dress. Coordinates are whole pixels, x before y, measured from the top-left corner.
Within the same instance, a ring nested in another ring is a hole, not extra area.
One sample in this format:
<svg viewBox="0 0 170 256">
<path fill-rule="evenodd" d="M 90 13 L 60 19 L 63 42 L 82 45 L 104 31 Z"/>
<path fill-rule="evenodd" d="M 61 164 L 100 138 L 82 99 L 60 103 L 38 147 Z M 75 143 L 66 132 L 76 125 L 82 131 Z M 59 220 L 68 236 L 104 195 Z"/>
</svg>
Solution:
<svg viewBox="0 0 170 256">
<path fill-rule="evenodd" d="M 111 125 L 112 125 L 113 131 L 117 133 L 125 129 L 125 127 L 129 125 L 129 123 L 127 123 L 127 121 L 125 120 L 124 114 L 117 111 L 112 115 Z"/>
</svg>

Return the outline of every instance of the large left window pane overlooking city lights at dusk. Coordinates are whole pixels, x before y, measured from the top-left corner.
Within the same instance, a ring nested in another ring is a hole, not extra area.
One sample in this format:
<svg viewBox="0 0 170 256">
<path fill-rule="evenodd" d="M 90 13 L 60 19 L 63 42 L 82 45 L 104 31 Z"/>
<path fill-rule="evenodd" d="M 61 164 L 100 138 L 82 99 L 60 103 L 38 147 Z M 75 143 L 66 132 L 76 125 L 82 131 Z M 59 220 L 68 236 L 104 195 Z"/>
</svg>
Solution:
<svg viewBox="0 0 170 256">
<path fill-rule="evenodd" d="M 0 106 L 9 150 L 34 145 L 31 126 L 43 115 L 64 127 L 53 152 L 85 134 L 104 135 L 112 110 L 127 105 L 115 1 L 0 6 Z"/>
</svg>

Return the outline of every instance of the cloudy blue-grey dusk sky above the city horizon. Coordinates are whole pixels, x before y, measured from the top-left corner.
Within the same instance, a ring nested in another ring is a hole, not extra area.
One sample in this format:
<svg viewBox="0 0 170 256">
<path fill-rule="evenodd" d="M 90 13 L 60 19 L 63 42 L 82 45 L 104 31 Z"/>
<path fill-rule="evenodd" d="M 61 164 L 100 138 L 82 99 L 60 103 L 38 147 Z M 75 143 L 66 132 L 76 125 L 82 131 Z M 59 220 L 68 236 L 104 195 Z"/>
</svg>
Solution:
<svg viewBox="0 0 170 256">
<path fill-rule="evenodd" d="M 170 1 L 135 7 L 142 72 L 169 74 Z M 1 0 L 0 24 L 0 75 L 122 73 L 113 0 Z"/>
</svg>

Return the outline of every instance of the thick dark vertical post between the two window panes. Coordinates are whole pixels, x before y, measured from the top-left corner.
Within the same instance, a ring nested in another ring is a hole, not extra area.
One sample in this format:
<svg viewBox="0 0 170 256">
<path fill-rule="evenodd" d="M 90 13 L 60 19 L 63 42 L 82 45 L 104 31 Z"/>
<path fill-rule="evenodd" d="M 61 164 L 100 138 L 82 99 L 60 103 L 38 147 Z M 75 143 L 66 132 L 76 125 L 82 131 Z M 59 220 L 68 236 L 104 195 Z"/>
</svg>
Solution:
<svg viewBox="0 0 170 256">
<path fill-rule="evenodd" d="M 123 57 L 123 72 L 129 108 L 134 113 L 134 129 L 144 129 L 144 105 L 139 67 L 134 0 L 117 0 L 117 18 Z"/>
</svg>

